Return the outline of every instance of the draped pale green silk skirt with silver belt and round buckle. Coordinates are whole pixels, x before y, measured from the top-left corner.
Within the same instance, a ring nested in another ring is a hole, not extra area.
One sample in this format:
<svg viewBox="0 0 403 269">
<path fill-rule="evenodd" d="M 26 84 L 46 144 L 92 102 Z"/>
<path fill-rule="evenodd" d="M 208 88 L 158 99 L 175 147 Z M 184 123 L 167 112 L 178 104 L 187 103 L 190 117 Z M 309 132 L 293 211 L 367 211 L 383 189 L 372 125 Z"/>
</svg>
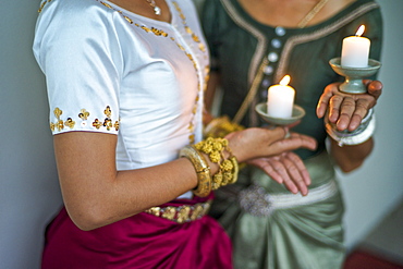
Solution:
<svg viewBox="0 0 403 269">
<path fill-rule="evenodd" d="M 327 152 L 304 163 L 313 181 L 305 197 L 249 167 L 216 192 L 210 213 L 232 239 L 235 268 L 342 268 L 344 208 L 333 164 Z"/>
</svg>

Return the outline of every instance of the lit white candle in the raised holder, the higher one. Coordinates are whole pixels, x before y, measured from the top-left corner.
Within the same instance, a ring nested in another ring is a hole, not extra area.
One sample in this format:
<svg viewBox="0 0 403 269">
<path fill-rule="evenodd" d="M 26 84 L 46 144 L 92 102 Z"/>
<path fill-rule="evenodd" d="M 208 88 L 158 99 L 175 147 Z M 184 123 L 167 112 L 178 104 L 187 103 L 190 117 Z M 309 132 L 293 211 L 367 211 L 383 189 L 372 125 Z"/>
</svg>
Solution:
<svg viewBox="0 0 403 269">
<path fill-rule="evenodd" d="M 362 37 L 365 26 L 359 26 L 355 36 L 349 36 L 343 39 L 341 50 L 341 65 L 349 68 L 367 68 L 370 40 Z"/>
</svg>

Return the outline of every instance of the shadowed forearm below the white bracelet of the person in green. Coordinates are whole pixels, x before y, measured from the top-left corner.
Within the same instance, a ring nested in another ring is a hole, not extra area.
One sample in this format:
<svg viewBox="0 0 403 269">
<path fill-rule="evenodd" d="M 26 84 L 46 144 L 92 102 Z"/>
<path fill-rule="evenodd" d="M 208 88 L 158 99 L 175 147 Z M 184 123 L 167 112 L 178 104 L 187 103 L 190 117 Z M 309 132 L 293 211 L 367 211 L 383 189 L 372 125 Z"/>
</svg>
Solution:
<svg viewBox="0 0 403 269">
<path fill-rule="evenodd" d="M 355 146 L 340 147 L 338 142 L 331 140 L 331 156 L 343 172 L 351 172 L 361 167 L 374 148 L 374 139 L 369 138 Z"/>
</svg>

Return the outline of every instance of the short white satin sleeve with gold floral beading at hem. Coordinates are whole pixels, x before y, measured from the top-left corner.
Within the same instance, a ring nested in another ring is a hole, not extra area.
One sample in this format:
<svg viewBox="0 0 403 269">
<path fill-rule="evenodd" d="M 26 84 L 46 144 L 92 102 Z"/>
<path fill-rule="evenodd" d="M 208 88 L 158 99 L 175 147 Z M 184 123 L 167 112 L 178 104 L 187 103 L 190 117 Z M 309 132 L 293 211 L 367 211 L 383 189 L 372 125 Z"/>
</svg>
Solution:
<svg viewBox="0 0 403 269">
<path fill-rule="evenodd" d="M 113 14 L 88 1 L 52 1 L 39 14 L 34 54 L 46 75 L 53 134 L 117 134 L 122 60 Z"/>
</svg>

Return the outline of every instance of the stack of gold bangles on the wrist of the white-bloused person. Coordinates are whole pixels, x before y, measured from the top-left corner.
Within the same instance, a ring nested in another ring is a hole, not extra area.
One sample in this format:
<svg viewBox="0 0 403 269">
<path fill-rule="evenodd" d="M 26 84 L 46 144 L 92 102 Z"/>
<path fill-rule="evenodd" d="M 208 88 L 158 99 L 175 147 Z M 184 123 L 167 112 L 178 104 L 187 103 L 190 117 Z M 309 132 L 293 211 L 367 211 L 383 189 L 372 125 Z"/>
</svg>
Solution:
<svg viewBox="0 0 403 269">
<path fill-rule="evenodd" d="M 224 158 L 224 150 L 230 152 L 228 159 Z M 206 154 L 211 162 L 219 166 L 219 171 L 212 176 L 210 174 L 210 168 L 202 152 Z M 198 185 L 193 193 L 199 197 L 206 197 L 211 189 L 217 189 L 227 184 L 233 184 L 237 180 L 237 160 L 228 147 L 228 140 L 225 138 L 209 137 L 194 146 L 185 146 L 180 151 L 180 157 L 186 157 L 195 167 Z"/>
</svg>

